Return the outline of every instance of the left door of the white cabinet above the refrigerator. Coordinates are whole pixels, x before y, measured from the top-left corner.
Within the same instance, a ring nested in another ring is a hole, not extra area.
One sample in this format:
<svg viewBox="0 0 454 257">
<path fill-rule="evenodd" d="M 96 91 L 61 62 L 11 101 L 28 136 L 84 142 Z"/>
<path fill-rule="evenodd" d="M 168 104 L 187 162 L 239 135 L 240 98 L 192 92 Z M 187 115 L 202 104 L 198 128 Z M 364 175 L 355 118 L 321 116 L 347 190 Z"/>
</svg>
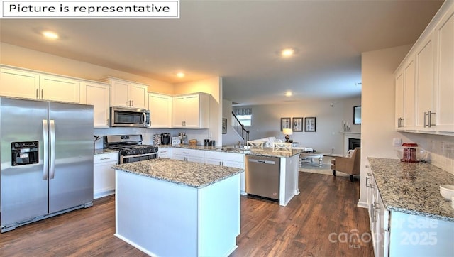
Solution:
<svg viewBox="0 0 454 257">
<path fill-rule="evenodd" d="M 39 88 L 38 73 L 0 67 L 0 95 L 37 99 Z"/>
</svg>

